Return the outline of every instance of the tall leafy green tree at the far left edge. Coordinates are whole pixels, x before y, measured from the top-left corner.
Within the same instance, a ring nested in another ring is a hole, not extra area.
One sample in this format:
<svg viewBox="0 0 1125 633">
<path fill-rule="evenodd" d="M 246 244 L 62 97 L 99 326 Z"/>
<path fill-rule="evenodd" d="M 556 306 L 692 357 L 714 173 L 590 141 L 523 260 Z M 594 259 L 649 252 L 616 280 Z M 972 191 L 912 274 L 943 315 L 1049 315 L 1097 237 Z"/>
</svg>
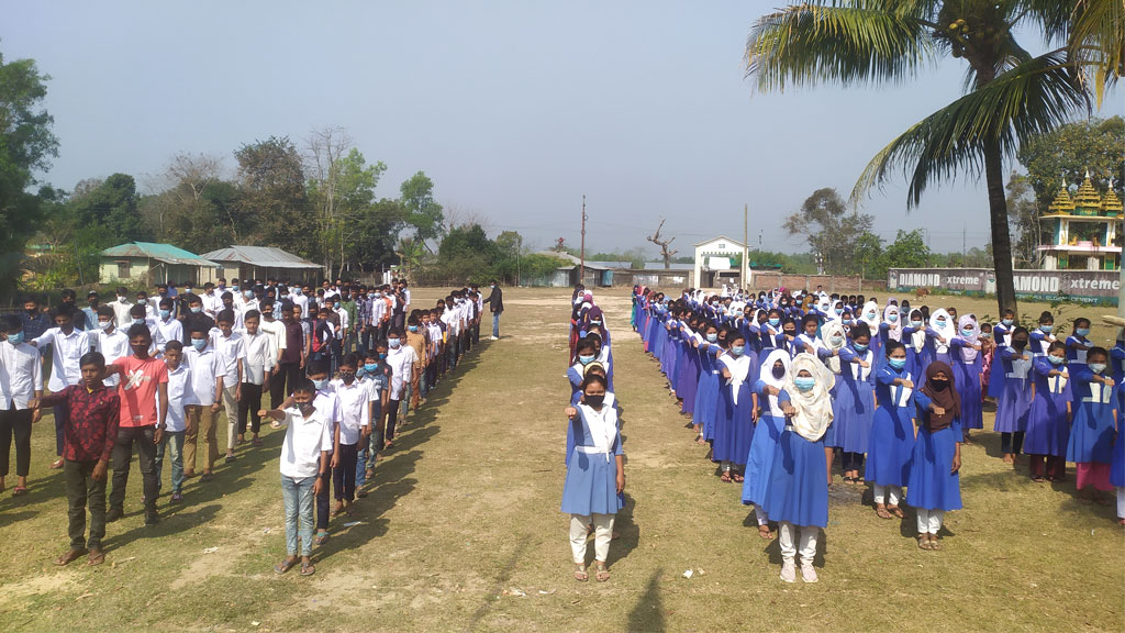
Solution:
<svg viewBox="0 0 1125 633">
<path fill-rule="evenodd" d="M 0 294 L 14 296 L 27 239 L 43 217 L 43 199 L 28 191 L 35 171 L 58 155 L 54 118 L 42 107 L 46 82 L 34 60 L 4 63 L 0 54 Z"/>
</svg>

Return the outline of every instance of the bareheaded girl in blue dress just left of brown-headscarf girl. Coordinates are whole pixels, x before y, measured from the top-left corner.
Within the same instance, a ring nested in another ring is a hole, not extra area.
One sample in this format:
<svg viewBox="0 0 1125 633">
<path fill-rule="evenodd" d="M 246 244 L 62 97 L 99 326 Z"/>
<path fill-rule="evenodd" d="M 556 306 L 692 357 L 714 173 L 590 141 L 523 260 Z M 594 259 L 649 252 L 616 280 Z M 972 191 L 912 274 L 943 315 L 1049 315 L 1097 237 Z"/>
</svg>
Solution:
<svg viewBox="0 0 1125 633">
<path fill-rule="evenodd" d="M 898 341 L 886 342 L 886 359 L 875 372 L 875 419 L 871 425 L 867 467 L 874 483 L 875 515 L 902 518 L 899 501 L 914 457 L 914 376 L 907 371 L 907 350 Z"/>
</svg>

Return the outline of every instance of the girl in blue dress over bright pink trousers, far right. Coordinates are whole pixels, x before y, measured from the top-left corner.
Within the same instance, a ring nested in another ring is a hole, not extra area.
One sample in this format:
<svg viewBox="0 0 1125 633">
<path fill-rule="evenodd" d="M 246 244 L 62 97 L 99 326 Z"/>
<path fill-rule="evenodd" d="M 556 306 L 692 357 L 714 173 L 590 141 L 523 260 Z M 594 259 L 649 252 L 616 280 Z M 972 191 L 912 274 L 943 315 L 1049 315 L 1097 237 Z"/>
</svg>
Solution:
<svg viewBox="0 0 1125 633">
<path fill-rule="evenodd" d="M 1070 428 L 1066 461 L 1074 462 L 1079 498 L 1108 503 L 1100 492 L 1113 490 L 1109 471 L 1114 461 L 1116 383 L 1105 374 L 1109 360 L 1105 348 L 1091 348 L 1086 360 L 1084 366 L 1074 367 L 1070 374 L 1074 424 Z"/>
</svg>

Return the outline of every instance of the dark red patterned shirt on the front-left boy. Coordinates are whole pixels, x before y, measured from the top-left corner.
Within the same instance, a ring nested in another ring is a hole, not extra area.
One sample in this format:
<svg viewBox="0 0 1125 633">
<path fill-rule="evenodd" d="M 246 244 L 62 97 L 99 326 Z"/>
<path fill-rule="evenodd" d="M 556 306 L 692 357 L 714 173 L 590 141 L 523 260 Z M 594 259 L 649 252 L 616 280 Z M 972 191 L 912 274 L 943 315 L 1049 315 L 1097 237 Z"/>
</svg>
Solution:
<svg viewBox="0 0 1125 633">
<path fill-rule="evenodd" d="M 70 408 L 70 420 L 63 428 L 63 458 L 72 462 L 108 462 L 109 452 L 117 440 L 120 420 L 117 390 L 100 386 L 89 391 L 86 385 L 71 385 L 40 401 L 42 407 L 55 404 Z"/>
</svg>

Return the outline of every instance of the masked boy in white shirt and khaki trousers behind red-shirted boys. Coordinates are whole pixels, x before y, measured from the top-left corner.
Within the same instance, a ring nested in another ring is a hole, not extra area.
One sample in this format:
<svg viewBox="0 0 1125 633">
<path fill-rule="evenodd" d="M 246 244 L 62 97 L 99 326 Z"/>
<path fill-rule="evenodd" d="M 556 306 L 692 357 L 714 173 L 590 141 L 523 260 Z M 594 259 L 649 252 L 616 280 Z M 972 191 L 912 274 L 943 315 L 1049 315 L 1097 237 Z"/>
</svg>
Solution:
<svg viewBox="0 0 1125 633">
<path fill-rule="evenodd" d="M 204 463 L 204 474 L 199 481 L 210 481 L 215 462 L 218 461 L 218 440 L 216 439 L 215 418 L 223 402 L 223 375 L 226 365 L 210 345 L 210 332 L 202 323 L 196 323 L 189 332 L 191 347 L 183 355 L 188 368 L 191 369 L 191 386 L 199 400 L 198 405 L 189 405 L 188 424 L 184 431 L 183 463 L 184 479 L 196 476 L 196 443 L 199 433 L 204 434 L 207 444 L 207 458 Z"/>
</svg>

